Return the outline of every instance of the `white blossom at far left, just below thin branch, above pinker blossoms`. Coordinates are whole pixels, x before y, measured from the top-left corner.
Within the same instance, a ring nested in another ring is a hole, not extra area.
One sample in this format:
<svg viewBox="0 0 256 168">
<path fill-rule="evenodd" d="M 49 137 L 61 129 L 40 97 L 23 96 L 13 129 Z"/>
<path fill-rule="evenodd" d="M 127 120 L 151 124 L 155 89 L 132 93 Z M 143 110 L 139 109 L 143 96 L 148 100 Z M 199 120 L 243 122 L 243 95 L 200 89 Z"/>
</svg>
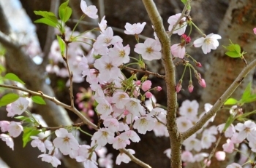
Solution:
<svg viewBox="0 0 256 168">
<path fill-rule="evenodd" d="M 7 116 L 15 116 L 15 115 L 21 115 L 26 108 L 29 106 L 29 100 L 27 100 L 25 97 L 19 97 L 18 100 L 11 103 L 10 105 L 7 105 Z"/>
</svg>

